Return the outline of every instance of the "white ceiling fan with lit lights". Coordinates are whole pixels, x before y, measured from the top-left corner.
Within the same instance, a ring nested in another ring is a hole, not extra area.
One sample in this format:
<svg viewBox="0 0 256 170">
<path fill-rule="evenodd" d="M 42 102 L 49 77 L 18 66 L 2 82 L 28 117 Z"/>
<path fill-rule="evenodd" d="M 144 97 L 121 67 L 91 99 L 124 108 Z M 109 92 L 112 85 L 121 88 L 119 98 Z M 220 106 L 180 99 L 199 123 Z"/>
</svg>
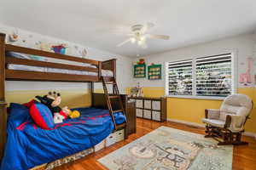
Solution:
<svg viewBox="0 0 256 170">
<path fill-rule="evenodd" d="M 147 23 L 146 25 L 137 24 L 134 26 L 131 26 L 131 33 L 128 34 L 129 38 L 126 39 L 124 42 L 121 42 L 117 45 L 117 47 L 121 47 L 127 42 L 135 43 L 137 42 L 138 46 L 141 46 L 142 48 L 147 48 L 146 40 L 148 38 L 152 39 L 162 39 L 162 40 L 169 40 L 169 36 L 165 35 L 153 35 L 148 34 L 147 31 L 154 27 L 153 23 Z"/>
</svg>

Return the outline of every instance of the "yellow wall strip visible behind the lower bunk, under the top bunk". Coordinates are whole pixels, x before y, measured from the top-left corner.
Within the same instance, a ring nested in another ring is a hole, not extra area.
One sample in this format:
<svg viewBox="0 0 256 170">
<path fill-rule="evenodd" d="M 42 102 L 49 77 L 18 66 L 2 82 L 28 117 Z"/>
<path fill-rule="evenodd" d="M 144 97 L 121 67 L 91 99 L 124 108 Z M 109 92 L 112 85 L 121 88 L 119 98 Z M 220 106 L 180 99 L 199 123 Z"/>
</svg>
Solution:
<svg viewBox="0 0 256 170">
<path fill-rule="evenodd" d="M 5 93 L 7 102 L 26 103 L 36 95 L 48 94 L 49 90 L 8 91 Z M 61 93 L 61 106 L 69 108 L 90 106 L 90 91 L 87 89 L 58 90 Z"/>
</svg>

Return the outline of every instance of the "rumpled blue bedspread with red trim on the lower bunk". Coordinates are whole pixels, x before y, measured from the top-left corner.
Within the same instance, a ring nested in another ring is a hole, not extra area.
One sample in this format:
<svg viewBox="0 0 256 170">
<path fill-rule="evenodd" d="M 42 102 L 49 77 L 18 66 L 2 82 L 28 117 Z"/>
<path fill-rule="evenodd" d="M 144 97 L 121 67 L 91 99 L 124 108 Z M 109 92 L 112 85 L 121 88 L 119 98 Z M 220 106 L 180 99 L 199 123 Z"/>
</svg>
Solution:
<svg viewBox="0 0 256 170">
<path fill-rule="evenodd" d="M 23 107 L 23 106 L 19 106 Z M 113 132 L 108 110 L 78 109 L 81 116 L 67 119 L 52 130 L 37 127 L 27 111 L 11 110 L 8 139 L 1 170 L 21 170 L 55 161 L 98 144 Z M 22 117 L 20 116 L 22 115 Z M 125 122 L 123 113 L 115 115 L 117 124 Z"/>
</svg>

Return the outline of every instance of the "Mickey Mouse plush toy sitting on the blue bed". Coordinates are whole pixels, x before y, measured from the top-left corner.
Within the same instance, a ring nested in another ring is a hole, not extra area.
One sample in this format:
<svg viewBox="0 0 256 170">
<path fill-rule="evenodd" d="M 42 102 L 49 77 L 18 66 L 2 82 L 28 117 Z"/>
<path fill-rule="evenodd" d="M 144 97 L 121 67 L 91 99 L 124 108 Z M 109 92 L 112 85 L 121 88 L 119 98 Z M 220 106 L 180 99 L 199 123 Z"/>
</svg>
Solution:
<svg viewBox="0 0 256 170">
<path fill-rule="evenodd" d="M 80 116 L 79 111 L 70 111 L 67 106 L 63 108 L 59 106 L 61 104 L 61 94 L 59 93 L 49 92 L 48 95 L 44 95 L 43 97 L 36 96 L 36 98 L 53 113 L 55 123 L 63 122 L 64 119 L 67 119 L 67 116 L 70 118 Z"/>
</svg>

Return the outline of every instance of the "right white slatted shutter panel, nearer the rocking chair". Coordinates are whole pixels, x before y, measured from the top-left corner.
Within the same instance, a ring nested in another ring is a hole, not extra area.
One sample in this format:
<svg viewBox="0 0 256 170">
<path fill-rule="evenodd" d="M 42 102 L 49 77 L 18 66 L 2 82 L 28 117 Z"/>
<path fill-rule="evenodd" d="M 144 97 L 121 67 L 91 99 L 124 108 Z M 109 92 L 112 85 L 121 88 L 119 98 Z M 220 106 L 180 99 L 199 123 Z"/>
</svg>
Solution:
<svg viewBox="0 0 256 170">
<path fill-rule="evenodd" d="M 227 96 L 232 92 L 231 54 L 195 59 L 196 95 Z"/>
</svg>

